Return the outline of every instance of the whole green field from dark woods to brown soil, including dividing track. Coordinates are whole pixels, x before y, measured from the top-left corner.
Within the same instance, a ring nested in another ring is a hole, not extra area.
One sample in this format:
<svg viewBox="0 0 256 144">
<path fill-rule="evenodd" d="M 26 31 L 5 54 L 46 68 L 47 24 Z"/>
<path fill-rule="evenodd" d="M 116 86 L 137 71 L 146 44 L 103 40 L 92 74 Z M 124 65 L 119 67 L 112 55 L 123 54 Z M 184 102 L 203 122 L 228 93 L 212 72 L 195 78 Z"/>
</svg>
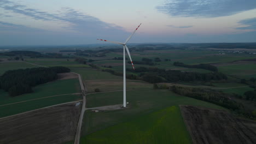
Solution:
<svg viewBox="0 0 256 144">
<path fill-rule="evenodd" d="M 78 79 L 57 80 L 44 83 L 34 87 L 33 91 L 33 93 L 22 94 L 17 97 L 9 97 L 8 93 L 1 89 L 0 117 L 82 99 L 80 94 L 73 94 L 80 93 Z M 51 97 L 54 95 L 59 96 Z M 25 102 L 19 103 L 21 101 Z M 17 107 L 19 107 L 19 109 L 17 109 Z"/>
</svg>

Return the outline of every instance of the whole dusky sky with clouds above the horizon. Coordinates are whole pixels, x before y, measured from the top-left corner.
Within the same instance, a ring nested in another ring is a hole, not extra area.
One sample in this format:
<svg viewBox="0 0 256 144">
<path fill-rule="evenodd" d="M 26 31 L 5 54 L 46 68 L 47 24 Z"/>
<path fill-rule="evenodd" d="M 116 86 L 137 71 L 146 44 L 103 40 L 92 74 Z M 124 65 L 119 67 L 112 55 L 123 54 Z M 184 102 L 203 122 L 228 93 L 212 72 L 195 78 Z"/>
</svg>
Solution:
<svg viewBox="0 0 256 144">
<path fill-rule="evenodd" d="M 255 0 L 0 0 L 0 46 L 256 42 Z"/>
</svg>

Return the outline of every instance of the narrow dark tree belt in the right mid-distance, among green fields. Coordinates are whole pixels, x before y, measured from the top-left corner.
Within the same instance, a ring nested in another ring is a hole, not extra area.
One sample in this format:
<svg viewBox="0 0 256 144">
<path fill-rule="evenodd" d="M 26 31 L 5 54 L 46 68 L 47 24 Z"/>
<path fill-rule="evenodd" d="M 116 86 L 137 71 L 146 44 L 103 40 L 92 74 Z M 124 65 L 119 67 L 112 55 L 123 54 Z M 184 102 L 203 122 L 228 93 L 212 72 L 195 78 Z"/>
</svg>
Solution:
<svg viewBox="0 0 256 144">
<path fill-rule="evenodd" d="M 185 67 L 185 68 L 197 68 L 197 69 L 206 69 L 206 70 L 211 70 L 214 72 L 218 71 L 218 68 L 211 65 L 211 64 L 195 64 L 195 65 L 189 65 L 189 64 L 184 64 L 182 62 L 174 62 L 174 66 L 176 67 Z"/>
</svg>

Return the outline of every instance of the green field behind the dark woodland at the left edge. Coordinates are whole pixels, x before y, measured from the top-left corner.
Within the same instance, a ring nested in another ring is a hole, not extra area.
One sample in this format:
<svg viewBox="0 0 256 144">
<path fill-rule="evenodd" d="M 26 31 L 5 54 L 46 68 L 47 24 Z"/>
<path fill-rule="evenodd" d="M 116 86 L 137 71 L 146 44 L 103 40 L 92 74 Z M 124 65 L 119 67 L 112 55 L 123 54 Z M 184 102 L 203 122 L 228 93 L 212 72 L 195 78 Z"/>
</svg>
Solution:
<svg viewBox="0 0 256 144">
<path fill-rule="evenodd" d="M 24 63 L 21 61 L 0 62 L 0 75 L 4 74 L 4 72 L 7 70 L 26 69 L 26 68 L 35 68 L 35 67 L 38 67 L 38 66 Z"/>
</svg>

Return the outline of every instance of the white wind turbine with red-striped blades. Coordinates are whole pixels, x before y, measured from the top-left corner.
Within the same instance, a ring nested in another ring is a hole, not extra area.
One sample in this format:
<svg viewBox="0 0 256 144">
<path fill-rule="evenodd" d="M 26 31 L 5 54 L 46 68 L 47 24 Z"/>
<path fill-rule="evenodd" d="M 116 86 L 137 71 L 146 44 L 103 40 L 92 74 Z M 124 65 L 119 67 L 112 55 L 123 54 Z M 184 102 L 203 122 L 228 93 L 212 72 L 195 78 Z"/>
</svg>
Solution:
<svg viewBox="0 0 256 144">
<path fill-rule="evenodd" d="M 141 26 L 141 24 L 139 24 L 139 26 Z M 138 26 L 138 27 L 139 27 Z M 109 40 L 105 40 L 105 39 L 97 39 L 97 40 L 102 40 L 102 41 L 108 41 L 110 43 L 114 43 L 114 44 L 119 44 L 119 45 L 123 45 L 124 47 L 124 107 L 126 107 L 126 74 L 125 74 L 125 49 L 128 53 L 128 56 L 130 58 L 130 61 L 131 61 L 131 64 L 132 64 L 132 68 L 134 68 L 134 65 L 132 63 L 132 59 L 131 59 L 131 55 L 130 55 L 130 51 L 128 49 L 128 47 L 126 46 L 127 42 L 131 39 L 132 35 L 137 31 L 138 27 L 133 31 L 133 33 L 130 35 L 130 37 L 128 37 L 125 41 L 125 43 L 120 43 L 120 42 L 117 42 L 117 41 L 109 41 Z"/>
</svg>

